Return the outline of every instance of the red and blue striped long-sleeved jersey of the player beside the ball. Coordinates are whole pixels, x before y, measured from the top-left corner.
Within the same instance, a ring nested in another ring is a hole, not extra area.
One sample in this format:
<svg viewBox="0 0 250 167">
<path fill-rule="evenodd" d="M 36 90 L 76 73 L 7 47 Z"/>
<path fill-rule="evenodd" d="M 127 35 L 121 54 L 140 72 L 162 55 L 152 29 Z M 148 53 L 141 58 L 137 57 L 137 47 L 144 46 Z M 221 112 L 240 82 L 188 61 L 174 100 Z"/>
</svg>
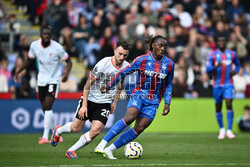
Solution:
<svg viewBox="0 0 250 167">
<path fill-rule="evenodd" d="M 138 80 L 132 94 L 140 94 L 152 104 L 159 104 L 164 94 L 165 103 L 170 104 L 172 95 L 172 80 L 174 75 L 174 62 L 167 56 L 157 61 L 152 53 L 139 56 L 131 66 L 120 71 L 108 83 L 113 87 L 126 75 L 138 71 Z"/>
</svg>

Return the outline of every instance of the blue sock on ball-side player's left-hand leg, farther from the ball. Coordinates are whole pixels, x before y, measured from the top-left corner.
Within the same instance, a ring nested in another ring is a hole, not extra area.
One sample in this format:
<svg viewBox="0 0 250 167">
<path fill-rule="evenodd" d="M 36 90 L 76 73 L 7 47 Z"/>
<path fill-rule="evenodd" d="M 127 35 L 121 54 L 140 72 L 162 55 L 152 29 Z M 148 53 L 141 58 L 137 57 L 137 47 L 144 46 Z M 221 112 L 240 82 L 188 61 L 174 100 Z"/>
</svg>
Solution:
<svg viewBox="0 0 250 167">
<path fill-rule="evenodd" d="M 117 121 L 112 128 L 108 131 L 108 133 L 104 136 L 104 140 L 110 142 L 115 136 L 119 135 L 121 131 L 127 127 L 126 122 L 124 119 L 120 119 Z"/>
</svg>

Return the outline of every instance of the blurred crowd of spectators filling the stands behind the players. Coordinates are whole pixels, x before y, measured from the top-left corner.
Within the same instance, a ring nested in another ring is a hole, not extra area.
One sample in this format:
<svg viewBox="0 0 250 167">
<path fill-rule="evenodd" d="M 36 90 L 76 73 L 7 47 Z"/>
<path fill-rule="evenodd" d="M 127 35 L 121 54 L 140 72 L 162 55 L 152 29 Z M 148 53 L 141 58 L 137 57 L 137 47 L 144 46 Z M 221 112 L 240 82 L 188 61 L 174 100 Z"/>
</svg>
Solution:
<svg viewBox="0 0 250 167">
<path fill-rule="evenodd" d="M 87 69 L 106 56 L 113 55 L 119 39 L 128 40 L 131 50 L 127 61 L 148 51 L 145 39 L 150 35 L 168 38 L 168 56 L 174 60 L 173 97 L 212 97 L 211 76 L 206 73 L 209 53 L 216 49 L 214 36 L 226 34 L 227 48 L 234 50 L 242 69 L 234 76 L 235 97 L 250 97 L 250 2 L 245 0 L 16 0 L 19 10 L 36 25 L 49 24 L 54 39 Z M 14 17 L 11 21 L 9 18 Z M 15 31 L 15 15 L 8 15 L 0 3 L 0 25 L 8 22 Z M 6 21 L 6 22 L 4 22 Z M 13 82 L 13 70 L 27 56 L 27 34 L 15 41 L 18 52 L 15 66 L 0 50 L 0 91 L 17 92 L 16 97 L 35 96 L 36 65 L 29 67 L 20 83 Z M 35 63 L 34 63 L 35 64 Z M 82 91 L 74 79 L 70 88 Z M 73 77 L 72 77 L 73 78 Z M 128 77 L 128 79 L 133 79 Z M 23 83 L 24 82 L 24 83 Z M 4 84 L 6 83 L 6 84 Z M 126 84 L 131 84 L 127 81 Z M 126 86 L 125 86 L 126 87 Z"/>
</svg>

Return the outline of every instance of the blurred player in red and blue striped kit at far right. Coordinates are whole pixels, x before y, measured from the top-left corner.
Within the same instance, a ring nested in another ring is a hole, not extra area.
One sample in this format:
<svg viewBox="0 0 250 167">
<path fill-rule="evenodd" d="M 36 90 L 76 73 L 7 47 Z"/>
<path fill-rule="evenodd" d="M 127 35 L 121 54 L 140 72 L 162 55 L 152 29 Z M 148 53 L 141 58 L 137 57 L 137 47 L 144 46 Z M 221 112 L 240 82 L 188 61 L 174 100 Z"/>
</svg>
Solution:
<svg viewBox="0 0 250 167">
<path fill-rule="evenodd" d="M 213 73 L 213 97 L 216 107 L 216 119 L 220 127 L 218 139 L 235 138 L 232 132 L 233 126 L 233 75 L 240 70 L 240 62 L 237 55 L 232 50 L 226 49 L 226 38 L 223 34 L 216 36 L 217 50 L 213 51 L 208 57 L 207 73 Z M 222 101 L 226 100 L 227 107 L 227 132 L 223 125 Z"/>
</svg>

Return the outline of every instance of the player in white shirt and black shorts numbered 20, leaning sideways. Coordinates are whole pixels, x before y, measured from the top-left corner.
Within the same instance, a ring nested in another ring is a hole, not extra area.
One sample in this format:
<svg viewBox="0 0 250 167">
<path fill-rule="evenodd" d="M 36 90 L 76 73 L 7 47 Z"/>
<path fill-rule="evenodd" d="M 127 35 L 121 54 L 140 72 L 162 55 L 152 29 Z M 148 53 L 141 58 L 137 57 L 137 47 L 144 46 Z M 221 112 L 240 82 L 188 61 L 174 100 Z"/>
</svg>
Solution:
<svg viewBox="0 0 250 167">
<path fill-rule="evenodd" d="M 102 94 L 100 88 L 110 82 L 115 74 L 129 66 L 129 63 L 125 61 L 128 52 L 129 44 L 123 40 L 118 41 L 114 49 L 114 56 L 103 58 L 92 70 L 84 86 L 83 96 L 77 106 L 74 122 L 68 122 L 62 127 L 60 125 L 56 127 L 51 140 L 52 146 L 57 145 L 63 133 L 80 132 L 86 120 L 92 122 L 90 131 L 84 133 L 80 139 L 67 150 L 65 154 L 66 157 L 78 158 L 75 151 L 87 145 L 99 135 L 108 120 L 109 113 L 114 113 L 118 96 L 123 88 L 123 83 L 120 82 L 107 94 Z M 112 103 L 114 94 L 115 99 Z"/>
</svg>

